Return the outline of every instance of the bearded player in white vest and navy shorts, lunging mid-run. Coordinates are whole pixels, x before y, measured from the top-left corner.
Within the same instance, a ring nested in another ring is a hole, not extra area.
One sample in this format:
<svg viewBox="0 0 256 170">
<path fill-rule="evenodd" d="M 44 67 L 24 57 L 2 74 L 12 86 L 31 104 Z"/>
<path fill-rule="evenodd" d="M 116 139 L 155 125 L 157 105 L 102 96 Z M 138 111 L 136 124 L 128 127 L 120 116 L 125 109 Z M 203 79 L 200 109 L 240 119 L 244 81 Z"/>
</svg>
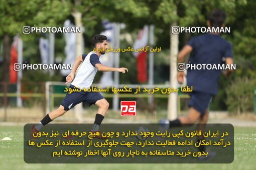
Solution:
<svg viewBox="0 0 256 170">
<path fill-rule="evenodd" d="M 104 35 L 95 35 L 92 38 L 92 43 L 94 47 L 97 49 L 97 51 L 96 52 L 91 51 L 87 55 L 83 54 L 82 56 L 78 56 L 74 62 L 71 73 L 66 77 L 66 83 L 72 82 L 70 84 L 71 88 L 74 88 L 76 86 L 78 88 L 81 88 L 82 90 L 80 92 L 72 92 L 70 94 L 67 93 L 65 98 L 62 100 L 62 103 L 59 106 L 59 108 L 48 113 L 38 124 L 34 125 L 32 127 L 32 132 L 36 132 L 40 130 L 40 128 L 42 128 L 44 125 L 46 125 L 53 119 L 63 115 L 70 108 L 72 108 L 76 104 L 83 101 L 87 105 L 96 104 L 99 107 L 97 110 L 95 121 L 91 131 L 99 130 L 99 125 L 106 114 L 109 103 L 99 92 L 92 92 L 92 91 L 84 92 L 83 89 L 89 88 L 91 86 L 91 83 L 93 81 L 93 78 L 97 70 L 118 71 L 122 73 L 125 73 L 125 71 L 128 71 L 128 69 L 124 67 L 114 68 L 114 67 L 102 65 L 100 63 L 100 60 L 99 60 L 100 55 L 104 54 L 105 50 L 107 49 L 106 39 L 107 37 Z M 83 63 L 81 64 L 76 74 L 76 77 L 74 79 L 74 74 L 76 72 L 76 69 L 78 68 L 78 66 L 82 61 Z"/>
</svg>

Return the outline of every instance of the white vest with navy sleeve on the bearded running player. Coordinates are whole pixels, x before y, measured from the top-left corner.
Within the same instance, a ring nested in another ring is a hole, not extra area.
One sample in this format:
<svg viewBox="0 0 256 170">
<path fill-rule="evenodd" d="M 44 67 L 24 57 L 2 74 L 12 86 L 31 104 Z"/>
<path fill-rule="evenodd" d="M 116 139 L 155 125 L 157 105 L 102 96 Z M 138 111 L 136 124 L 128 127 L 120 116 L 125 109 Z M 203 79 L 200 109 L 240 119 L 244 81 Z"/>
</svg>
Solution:
<svg viewBox="0 0 256 170">
<path fill-rule="evenodd" d="M 96 54 L 96 52 L 91 51 L 87 55 L 83 54 L 82 58 L 83 63 L 81 64 L 71 84 L 83 90 L 84 88 L 89 88 L 91 86 L 97 72 L 95 64 L 100 63 L 100 57 Z"/>
</svg>

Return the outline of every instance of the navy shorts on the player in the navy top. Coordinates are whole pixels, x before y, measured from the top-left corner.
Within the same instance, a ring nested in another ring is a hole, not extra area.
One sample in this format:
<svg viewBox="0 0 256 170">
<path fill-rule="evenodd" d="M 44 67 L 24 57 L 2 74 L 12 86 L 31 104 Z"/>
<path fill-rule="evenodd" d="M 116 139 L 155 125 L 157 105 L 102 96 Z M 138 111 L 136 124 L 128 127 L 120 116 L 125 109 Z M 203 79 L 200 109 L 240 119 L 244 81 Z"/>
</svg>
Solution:
<svg viewBox="0 0 256 170">
<path fill-rule="evenodd" d="M 189 93 L 190 100 L 188 102 L 189 107 L 194 107 L 201 113 L 201 117 L 204 115 L 205 110 L 208 108 L 212 98 L 212 94 L 207 94 L 198 91 L 192 91 Z"/>
</svg>

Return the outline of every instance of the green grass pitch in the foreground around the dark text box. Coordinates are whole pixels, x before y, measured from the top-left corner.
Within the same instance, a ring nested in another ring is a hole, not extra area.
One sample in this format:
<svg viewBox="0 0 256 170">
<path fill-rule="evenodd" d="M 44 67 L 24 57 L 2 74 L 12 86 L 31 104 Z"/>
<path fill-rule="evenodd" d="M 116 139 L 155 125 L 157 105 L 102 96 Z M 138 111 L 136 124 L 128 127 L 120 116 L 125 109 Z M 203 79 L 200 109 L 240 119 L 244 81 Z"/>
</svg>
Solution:
<svg viewBox="0 0 256 170">
<path fill-rule="evenodd" d="M 226 164 L 28 164 L 23 160 L 23 126 L 0 125 L 0 169 L 256 169 L 254 127 L 234 128 L 234 161 Z"/>
</svg>

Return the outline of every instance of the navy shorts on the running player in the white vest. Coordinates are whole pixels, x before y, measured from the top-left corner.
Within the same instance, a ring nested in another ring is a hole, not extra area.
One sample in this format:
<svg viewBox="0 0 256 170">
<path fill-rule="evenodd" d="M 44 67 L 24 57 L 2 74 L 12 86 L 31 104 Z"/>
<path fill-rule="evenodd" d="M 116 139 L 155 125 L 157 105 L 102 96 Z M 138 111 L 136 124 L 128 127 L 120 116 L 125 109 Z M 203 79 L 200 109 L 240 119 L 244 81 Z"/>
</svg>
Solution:
<svg viewBox="0 0 256 170">
<path fill-rule="evenodd" d="M 74 88 L 74 85 L 70 85 L 70 88 Z M 88 106 L 95 104 L 97 100 L 103 99 L 104 97 L 99 92 L 93 91 L 73 91 L 66 94 L 65 98 L 62 100 L 61 105 L 64 106 L 64 110 L 69 110 L 80 102 L 85 102 Z"/>
</svg>

